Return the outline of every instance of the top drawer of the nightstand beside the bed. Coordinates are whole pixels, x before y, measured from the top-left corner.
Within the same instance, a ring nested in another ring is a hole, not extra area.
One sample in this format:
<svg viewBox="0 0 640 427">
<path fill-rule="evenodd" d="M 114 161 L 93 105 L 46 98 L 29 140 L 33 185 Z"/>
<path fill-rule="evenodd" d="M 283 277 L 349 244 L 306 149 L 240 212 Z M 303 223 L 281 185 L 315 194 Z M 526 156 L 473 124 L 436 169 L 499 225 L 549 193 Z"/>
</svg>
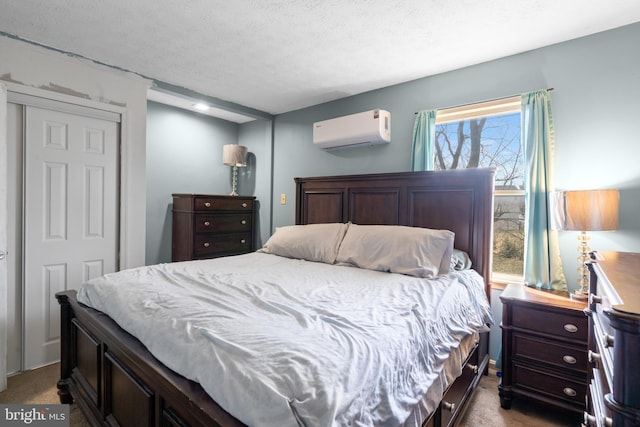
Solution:
<svg viewBox="0 0 640 427">
<path fill-rule="evenodd" d="M 586 342 L 589 336 L 589 323 L 586 316 L 569 316 L 566 313 L 540 310 L 531 305 L 514 307 L 512 322 L 514 328 L 528 329 L 561 338 Z"/>
</svg>

